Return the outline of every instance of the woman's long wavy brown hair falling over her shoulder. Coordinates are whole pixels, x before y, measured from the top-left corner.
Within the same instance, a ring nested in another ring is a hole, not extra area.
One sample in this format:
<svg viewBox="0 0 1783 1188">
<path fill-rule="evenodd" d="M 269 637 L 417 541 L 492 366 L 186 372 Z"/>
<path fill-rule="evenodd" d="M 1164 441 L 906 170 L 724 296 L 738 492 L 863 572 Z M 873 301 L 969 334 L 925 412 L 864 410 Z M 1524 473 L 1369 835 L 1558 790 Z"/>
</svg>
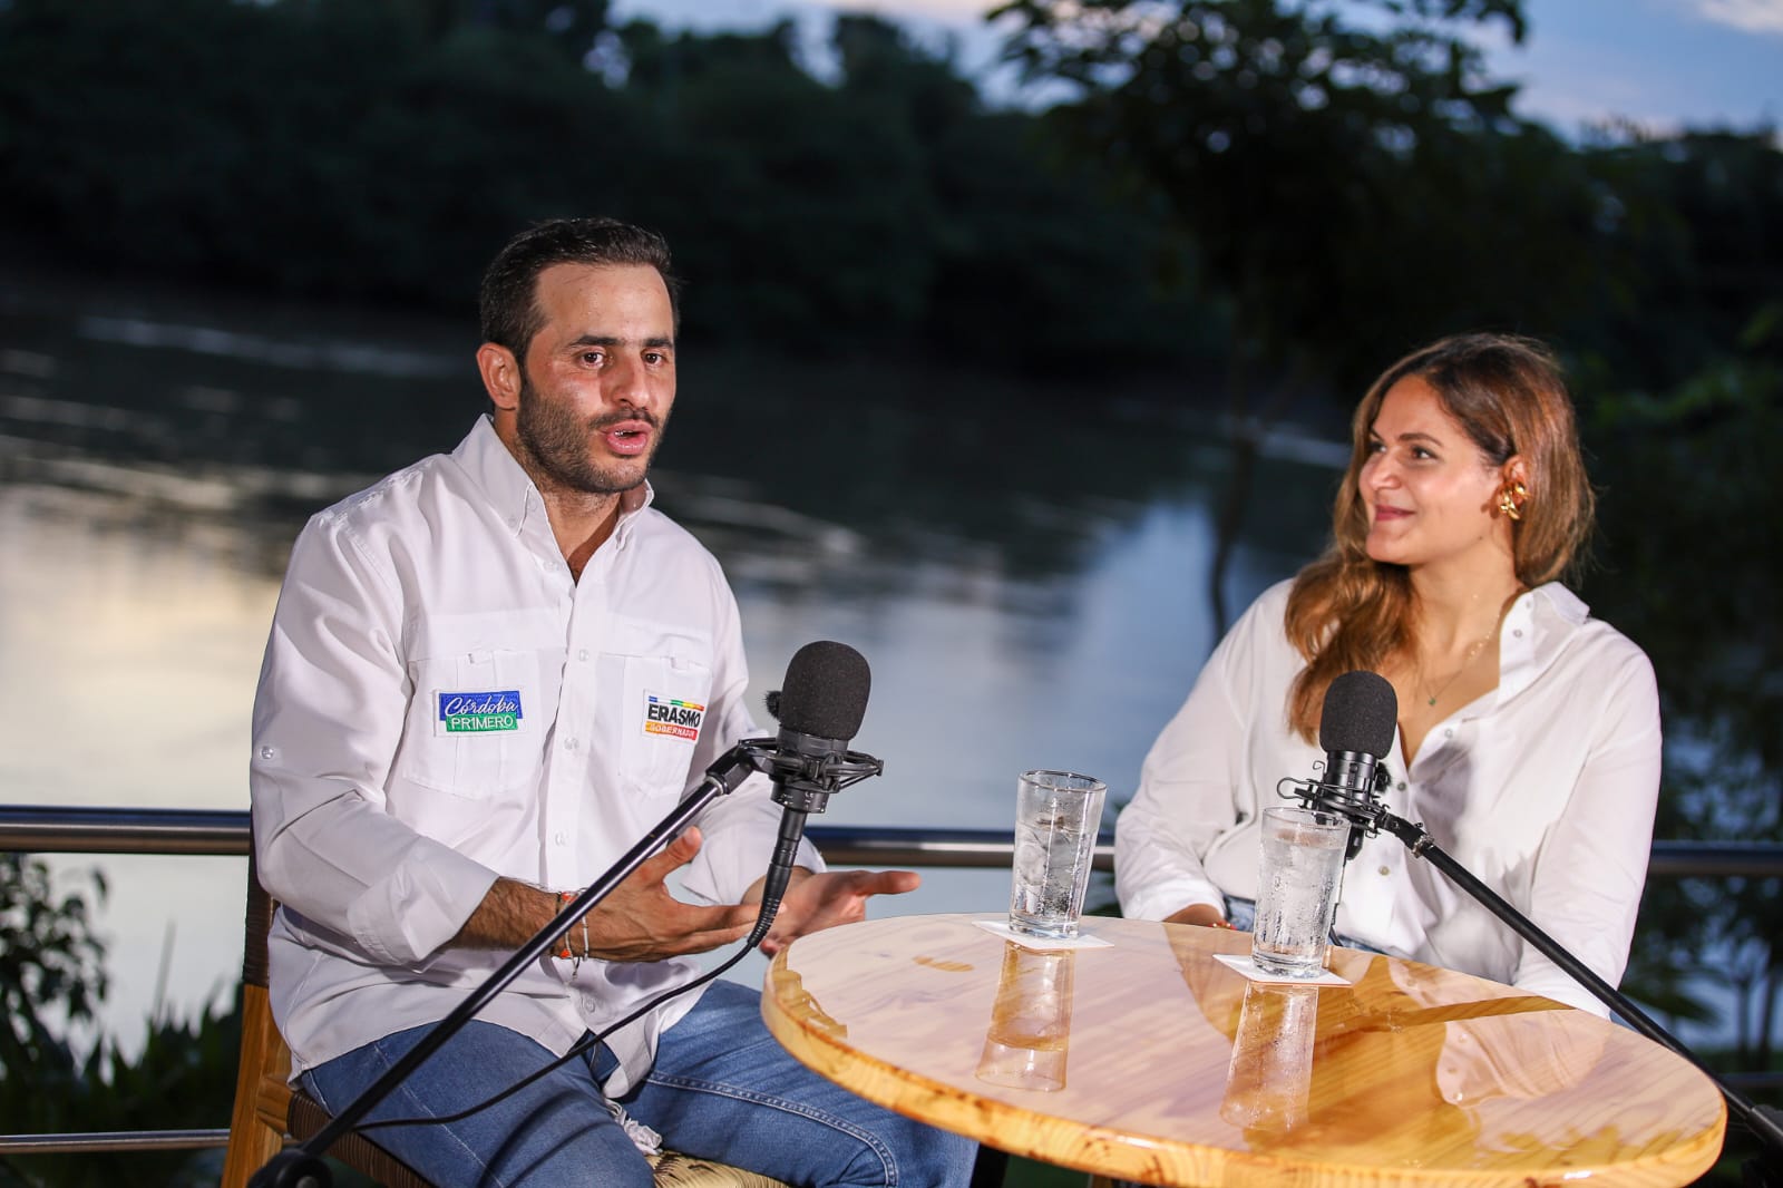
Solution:
<svg viewBox="0 0 1783 1188">
<path fill-rule="evenodd" d="M 1307 658 L 1287 694 L 1287 721 L 1309 742 L 1318 737 L 1325 690 L 1334 680 L 1353 669 L 1378 671 L 1412 644 L 1412 583 L 1405 565 L 1368 555 L 1360 485 L 1380 403 L 1407 376 L 1435 391 L 1487 464 L 1523 458 L 1528 499 L 1523 519 L 1510 524 L 1517 582 L 1537 587 L 1569 573 L 1590 535 L 1596 498 L 1573 401 L 1546 346 L 1516 335 L 1462 334 L 1387 367 L 1350 425 L 1350 469 L 1332 508 L 1332 546 L 1300 571 L 1287 598 L 1287 639 Z"/>
</svg>

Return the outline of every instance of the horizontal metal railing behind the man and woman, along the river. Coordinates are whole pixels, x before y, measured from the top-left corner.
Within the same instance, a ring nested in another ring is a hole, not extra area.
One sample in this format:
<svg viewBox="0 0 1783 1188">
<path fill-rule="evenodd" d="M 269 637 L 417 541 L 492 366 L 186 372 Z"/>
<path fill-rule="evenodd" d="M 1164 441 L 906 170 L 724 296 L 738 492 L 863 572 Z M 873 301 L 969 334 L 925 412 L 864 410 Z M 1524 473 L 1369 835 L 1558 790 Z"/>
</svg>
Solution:
<svg viewBox="0 0 1783 1188">
<path fill-rule="evenodd" d="M 1002 829 L 826 826 L 806 829 L 834 865 L 1007 867 L 1015 835 Z M 248 810 L 78 808 L 0 804 L 0 853 L 223 854 L 246 856 Z M 1114 869 L 1114 835 L 1097 840 L 1095 867 Z M 1662 878 L 1778 878 L 1783 846 L 1772 842 L 1655 842 L 1647 865 Z M 1774 1086 L 1769 1072 L 1726 1074 L 1738 1088 Z M 226 1129 L 0 1134 L 0 1154 L 75 1151 L 180 1151 L 228 1145 Z"/>
</svg>

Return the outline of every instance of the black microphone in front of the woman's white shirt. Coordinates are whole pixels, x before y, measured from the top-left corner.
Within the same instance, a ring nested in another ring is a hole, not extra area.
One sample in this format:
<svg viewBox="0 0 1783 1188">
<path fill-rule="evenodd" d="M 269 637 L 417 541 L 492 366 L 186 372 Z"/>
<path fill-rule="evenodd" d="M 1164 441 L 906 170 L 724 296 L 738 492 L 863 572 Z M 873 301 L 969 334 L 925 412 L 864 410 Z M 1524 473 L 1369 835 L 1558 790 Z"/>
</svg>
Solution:
<svg viewBox="0 0 1783 1188">
<path fill-rule="evenodd" d="M 1387 812 L 1380 797 L 1391 781 L 1380 756 L 1393 747 L 1398 717 L 1400 697 L 1384 676 L 1362 669 L 1344 672 L 1325 690 L 1319 712 L 1323 778 L 1287 778 L 1275 785 L 1278 796 L 1298 796 L 1307 808 L 1350 821 L 1344 862 L 1357 856 L 1364 837 L 1380 831 Z"/>
</svg>

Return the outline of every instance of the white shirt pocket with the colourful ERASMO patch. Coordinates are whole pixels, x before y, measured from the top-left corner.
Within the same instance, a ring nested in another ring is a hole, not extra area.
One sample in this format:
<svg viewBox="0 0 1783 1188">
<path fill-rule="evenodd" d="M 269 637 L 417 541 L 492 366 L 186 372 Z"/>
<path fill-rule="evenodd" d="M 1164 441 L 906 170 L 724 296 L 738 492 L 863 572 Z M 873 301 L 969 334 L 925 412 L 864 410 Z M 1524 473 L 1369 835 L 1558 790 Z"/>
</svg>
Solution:
<svg viewBox="0 0 1783 1188">
<path fill-rule="evenodd" d="M 706 731 L 711 665 L 685 655 L 612 660 L 624 665 L 620 781 L 635 794 L 679 797 Z"/>
</svg>

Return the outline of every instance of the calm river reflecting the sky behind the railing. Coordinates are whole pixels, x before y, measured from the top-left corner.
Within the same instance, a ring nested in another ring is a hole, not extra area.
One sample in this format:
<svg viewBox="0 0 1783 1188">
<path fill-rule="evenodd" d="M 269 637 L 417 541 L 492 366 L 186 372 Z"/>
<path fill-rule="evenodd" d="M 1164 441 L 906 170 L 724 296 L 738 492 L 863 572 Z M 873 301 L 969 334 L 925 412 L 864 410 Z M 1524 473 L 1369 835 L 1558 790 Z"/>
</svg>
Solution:
<svg viewBox="0 0 1783 1188">
<path fill-rule="evenodd" d="M 312 510 L 456 444 L 483 408 L 474 348 L 469 312 L 0 278 L 7 799 L 246 808 L 291 540 Z M 1125 803 L 1216 639 L 1228 460 L 1209 401 L 933 360 L 679 355 L 658 507 L 731 578 L 758 717 L 808 640 L 872 665 L 854 746 L 884 776 L 817 821 L 1007 828 L 1027 767 L 1095 774 L 1111 810 Z M 1266 444 L 1228 606 L 1318 551 L 1341 458 L 1330 442 Z M 102 1026 L 127 1051 L 152 1011 L 226 1008 L 242 860 L 53 867 L 66 887 L 94 867 L 109 881 Z M 931 870 L 877 910 L 1006 899 L 1002 872 Z"/>
</svg>

